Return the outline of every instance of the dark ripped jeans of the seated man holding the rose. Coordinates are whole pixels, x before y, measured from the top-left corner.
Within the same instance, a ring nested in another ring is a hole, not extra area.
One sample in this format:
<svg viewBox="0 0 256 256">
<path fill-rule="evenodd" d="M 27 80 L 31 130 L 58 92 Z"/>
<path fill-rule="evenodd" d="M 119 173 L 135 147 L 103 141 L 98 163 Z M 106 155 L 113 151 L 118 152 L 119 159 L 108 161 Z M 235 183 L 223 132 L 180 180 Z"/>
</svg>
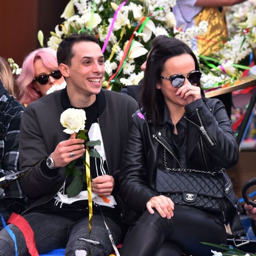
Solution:
<svg viewBox="0 0 256 256">
<path fill-rule="evenodd" d="M 113 247 L 109 239 L 105 224 L 101 215 L 93 215 L 90 240 L 98 241 L 99 244 L 92 244 L 80 238 L 89 239 L 88 217 L 77 222 L 68 218 L 51 215 L 47 213 L 29 213 L 23 216 L 34 231 L 34 237 L 39 254 L 51 251 L 56 248 L 66 247 L 66 255 L 75 255 L 76 250 L 83 250 L 83 255 L 108 256 Z M 105 217 L 105 221 L 112 233 L 116 244 L 122 240 L 122 232 L 112 219 Z M 30 255 L 28 253 L 23 234 L 19 229 L 8 225 L 15 233 L 18 255 Z M 87 253 L 87 254 L 86 254 Z M 15 255 L 14 242 L 8 232 L 0 231 L 0 256 Z"/>
</svg>

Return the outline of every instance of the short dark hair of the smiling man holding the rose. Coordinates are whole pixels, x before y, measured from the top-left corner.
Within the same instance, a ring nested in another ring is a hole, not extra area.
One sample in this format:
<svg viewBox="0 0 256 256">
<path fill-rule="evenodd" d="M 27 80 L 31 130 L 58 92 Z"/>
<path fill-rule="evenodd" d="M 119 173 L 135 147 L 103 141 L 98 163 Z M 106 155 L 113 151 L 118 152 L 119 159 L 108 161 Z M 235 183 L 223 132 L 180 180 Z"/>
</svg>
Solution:
<svg viewBox="0 0 256 256">
<path fill-rule="evenodd" d="M 95 38 L 92 35 L 86 34 L 86 33 L 72 34 L 72 35 L 64 38 L 60 42 L 60 45 L 57 50 L 58 65 L 60 65 L 60 63 L 63 63 L 63 64 L 70 66 L 71 59 L 74 56 L 72 47 L 75 43 L 82 42 L 82 41 L 94 42 L 96 44 L 99 44 L 99 41 L 97 38 Z"/>
</svg>

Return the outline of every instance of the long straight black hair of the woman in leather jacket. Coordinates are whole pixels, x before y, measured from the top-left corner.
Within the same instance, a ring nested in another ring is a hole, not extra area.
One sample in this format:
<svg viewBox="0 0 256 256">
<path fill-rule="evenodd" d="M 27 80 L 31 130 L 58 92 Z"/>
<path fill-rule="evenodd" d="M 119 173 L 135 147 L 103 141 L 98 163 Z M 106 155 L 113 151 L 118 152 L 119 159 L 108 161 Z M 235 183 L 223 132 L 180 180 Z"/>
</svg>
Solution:
<svg viewBox="0 0 256 256">
<path fill-rule="evenodd" d="M 171 57 L 188 53 L 195 61 L 196 70 L 200 70 L 195 54 L 184 42 L 177 38 L 161 36 L 149 53 L 147 66 L 144 74 L 141 102 L 151 122 L 157 126 L 159 114 L 163 113 L 164 97 L 161 90 L 156 88 L 160 83 L 161 73 L 166 60 Z M 199 85 L 200 86 L 200 85 Z"/>
</svg>

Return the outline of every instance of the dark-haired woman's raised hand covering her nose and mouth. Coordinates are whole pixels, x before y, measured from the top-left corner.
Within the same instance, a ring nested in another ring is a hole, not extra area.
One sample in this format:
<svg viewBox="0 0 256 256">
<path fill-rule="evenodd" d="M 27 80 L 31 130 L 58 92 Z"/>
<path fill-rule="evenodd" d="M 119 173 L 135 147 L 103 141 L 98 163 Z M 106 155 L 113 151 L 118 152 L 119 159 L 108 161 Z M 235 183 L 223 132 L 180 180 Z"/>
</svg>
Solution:
<svg viewBox="0 0 256 256">
<path fill-rule="evenodd" d="M 189 104 L 201 98 L 201 89 L 198 86 L 186 84 L 177 90 L 176 95 L 180 95 Z"/>
</svg>

